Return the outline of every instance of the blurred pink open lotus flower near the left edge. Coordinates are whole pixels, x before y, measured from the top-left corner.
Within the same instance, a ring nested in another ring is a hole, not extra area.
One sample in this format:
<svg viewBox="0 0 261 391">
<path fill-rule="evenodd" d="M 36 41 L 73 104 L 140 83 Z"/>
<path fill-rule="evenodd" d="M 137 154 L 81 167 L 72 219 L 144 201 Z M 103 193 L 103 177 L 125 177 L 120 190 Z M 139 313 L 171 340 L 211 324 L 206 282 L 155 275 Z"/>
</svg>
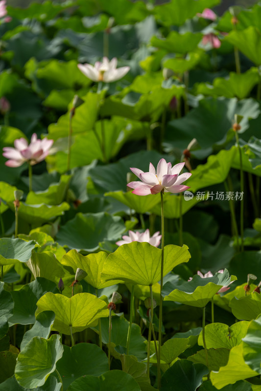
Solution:
<svg viewBox="0 0 261 391">
<path fill-rule="evenodd" d="M 43 140 L 37 139 L 36 133 L 32 135 L 29 145 L 25 138 L 19 138 L 14 141 L 15 148 L 3 148 L 3 156 L 10 159 L 5 162 L 5 165 L 20 167 L 24 162 L 28 162 L 33 166 L 47 157 L 52 144 L 53 140 L 48 140 L 46 137 Z"/>
</svg>

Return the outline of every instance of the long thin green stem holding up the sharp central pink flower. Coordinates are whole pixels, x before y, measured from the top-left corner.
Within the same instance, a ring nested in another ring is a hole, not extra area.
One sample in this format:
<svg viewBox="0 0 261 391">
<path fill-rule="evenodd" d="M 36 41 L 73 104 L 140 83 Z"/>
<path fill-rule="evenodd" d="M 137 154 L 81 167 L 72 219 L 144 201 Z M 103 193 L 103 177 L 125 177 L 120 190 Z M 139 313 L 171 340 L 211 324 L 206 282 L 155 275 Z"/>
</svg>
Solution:
<svg viewBox="0 0 261 391">
<path fill-rule="evenodd" d="M 161 291 L 163 287 L 163 270 L 164 270 L 164 202 L 163 202 L 164 193 L 161 192 Z M 159 348 L 158 348 L 158 357 L 161 357 L 161 341 L 162 341 L 162 307 L 163 307 L 163 297 L 160 295 L 160 314 L 159 314 Z M 158 389 L 161 386 L 161 360 L 158 360 Z"/>
</svg>

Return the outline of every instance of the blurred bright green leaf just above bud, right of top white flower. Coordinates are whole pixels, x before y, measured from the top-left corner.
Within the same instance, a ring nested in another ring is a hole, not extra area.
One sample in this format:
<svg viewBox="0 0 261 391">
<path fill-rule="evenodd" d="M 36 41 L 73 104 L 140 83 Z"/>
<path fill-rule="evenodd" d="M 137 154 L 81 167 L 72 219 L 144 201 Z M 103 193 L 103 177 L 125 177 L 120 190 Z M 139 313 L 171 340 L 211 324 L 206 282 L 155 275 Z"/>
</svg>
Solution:
<svg viewBox="0 0 261 391">
<path fill-rule="evenodd" d="M 184 73 L 193 69 L 204 56 L 204 52 L 197 50 L 196 52 L 190 52 L 186 57 L 175 57 L 168 59 L 164 62 L 165 68 L 172 69 L 175 73 Z"/>
</svg>

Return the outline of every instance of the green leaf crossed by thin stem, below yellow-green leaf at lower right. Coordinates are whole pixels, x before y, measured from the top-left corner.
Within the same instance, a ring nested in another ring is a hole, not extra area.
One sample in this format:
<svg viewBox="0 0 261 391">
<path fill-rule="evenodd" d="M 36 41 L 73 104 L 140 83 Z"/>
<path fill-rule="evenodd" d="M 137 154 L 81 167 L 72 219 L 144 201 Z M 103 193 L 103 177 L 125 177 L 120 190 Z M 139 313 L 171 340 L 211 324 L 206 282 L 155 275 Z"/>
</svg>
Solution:
<svg viewBox="0 0 261 391">
<path fill-rule="evenodd" d="M 208 349 L 208 368 L 209 370 L 218 370 L 220 367 L 224 367 L 228 363 L 229 349 L 218 348 Z M 199 350 L 192 356 L 188 357 L 188 360 L 192 363 L 204 364 L 207 367 L 206 353 L 204 349 Z"/>
</svg>

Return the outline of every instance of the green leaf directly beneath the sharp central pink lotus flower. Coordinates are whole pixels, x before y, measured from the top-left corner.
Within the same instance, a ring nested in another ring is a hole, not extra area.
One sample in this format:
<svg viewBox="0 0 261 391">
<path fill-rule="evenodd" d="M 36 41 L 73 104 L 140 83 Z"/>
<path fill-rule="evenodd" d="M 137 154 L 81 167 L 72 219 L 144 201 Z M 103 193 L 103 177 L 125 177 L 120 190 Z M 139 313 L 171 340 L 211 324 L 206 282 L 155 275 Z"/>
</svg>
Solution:
<svg viewBox="0 0 261 391">
<path fill-rule="evenodd" d="M 117 199 L 119 202 L 127 205 L 130 209 L 134 209 L 137 213 L 142 214 L 149 212 L 161 202 L 160 194 L 156 194 L 154 197 L 151 197 L 151 195 L 144 195 L 141 197 L 140 195 L 132 194 L 132 192 L 119 191 L 105 193 L 104 195 Z"/>
</svg>

